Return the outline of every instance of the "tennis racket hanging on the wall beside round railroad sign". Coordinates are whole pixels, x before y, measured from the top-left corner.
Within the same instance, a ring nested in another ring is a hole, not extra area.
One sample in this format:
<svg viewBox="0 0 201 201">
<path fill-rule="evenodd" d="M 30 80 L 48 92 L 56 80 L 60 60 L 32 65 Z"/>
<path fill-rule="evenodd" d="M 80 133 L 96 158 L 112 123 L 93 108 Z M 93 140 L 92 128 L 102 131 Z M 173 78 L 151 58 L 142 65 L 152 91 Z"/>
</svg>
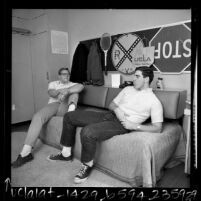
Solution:
<svg viewBox="0 0 201 201">
<path fill-rule="evenodd" d="M 102 49 L 102 51 L 104 52 L 104 56 L 105 56 L 105 75 L 107 75 L 107 71 L 106 71 L 106 66 L 107 66 L 107 52 L 110 49 L 112 43 L 112 39 L 109 33 L 104 33 L 101 36 L 100 39 L 100 47 Z"/>
</svg>

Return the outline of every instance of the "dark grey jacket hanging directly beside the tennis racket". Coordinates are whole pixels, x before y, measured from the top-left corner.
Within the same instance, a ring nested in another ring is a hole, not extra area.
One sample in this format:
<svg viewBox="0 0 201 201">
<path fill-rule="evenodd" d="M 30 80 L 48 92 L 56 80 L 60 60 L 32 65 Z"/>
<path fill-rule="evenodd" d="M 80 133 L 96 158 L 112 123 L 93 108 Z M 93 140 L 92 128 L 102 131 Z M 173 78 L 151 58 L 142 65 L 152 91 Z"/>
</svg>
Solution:
<svg viewBox="0 0 201 201">
<path fill-rule="evenodd" d="M 104 84 L 100 52 L 95 41 L 92 42 L 89 50 L 87 60 L 87 81 L 98 86 Z"/>
</svg>

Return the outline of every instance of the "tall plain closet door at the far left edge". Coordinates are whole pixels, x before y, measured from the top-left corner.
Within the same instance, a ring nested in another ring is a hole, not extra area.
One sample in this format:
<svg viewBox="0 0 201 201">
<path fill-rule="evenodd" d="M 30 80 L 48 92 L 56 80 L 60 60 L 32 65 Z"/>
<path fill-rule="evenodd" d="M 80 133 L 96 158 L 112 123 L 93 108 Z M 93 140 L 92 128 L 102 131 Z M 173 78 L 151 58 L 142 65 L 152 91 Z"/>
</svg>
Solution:
<svg viewBox="0 0 201 201">
<path fill-rule="evenodd" d="M 30 36 L 12 34 L 12 123 L 31 120 L 34 97 Z"/>
</svg>

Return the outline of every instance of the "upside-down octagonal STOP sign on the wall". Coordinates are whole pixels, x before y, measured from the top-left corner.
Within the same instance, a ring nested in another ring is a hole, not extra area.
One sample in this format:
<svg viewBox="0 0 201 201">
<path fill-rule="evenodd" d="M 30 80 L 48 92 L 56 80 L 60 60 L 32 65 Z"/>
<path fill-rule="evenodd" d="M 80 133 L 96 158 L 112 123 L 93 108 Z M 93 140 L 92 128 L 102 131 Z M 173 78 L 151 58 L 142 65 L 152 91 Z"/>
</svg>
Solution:
<svg viewBox="0 0 201 201">
<path fill-rule="evenodd" d="M 162 27 L 149 42 L 154 66 L 163 73 L 181 73 L 191 64 L 191 30 L 184 24 Z"/>
</svg>

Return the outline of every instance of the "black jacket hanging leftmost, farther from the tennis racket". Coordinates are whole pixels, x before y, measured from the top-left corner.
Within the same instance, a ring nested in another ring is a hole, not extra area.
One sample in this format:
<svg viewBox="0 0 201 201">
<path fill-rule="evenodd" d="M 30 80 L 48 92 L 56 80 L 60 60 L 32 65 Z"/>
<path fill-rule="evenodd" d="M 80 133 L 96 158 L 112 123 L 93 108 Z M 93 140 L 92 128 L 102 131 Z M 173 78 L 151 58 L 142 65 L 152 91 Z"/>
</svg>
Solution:
<svg viewBox="0 0 201 201">
<path fill-rule="evenodd" d="M 73 55 L 71 68 L 71 82 L 83 83 L 87 81 L 87 57 L 89 54 L 88 48 L 79 43 Z"/>
</svg>

